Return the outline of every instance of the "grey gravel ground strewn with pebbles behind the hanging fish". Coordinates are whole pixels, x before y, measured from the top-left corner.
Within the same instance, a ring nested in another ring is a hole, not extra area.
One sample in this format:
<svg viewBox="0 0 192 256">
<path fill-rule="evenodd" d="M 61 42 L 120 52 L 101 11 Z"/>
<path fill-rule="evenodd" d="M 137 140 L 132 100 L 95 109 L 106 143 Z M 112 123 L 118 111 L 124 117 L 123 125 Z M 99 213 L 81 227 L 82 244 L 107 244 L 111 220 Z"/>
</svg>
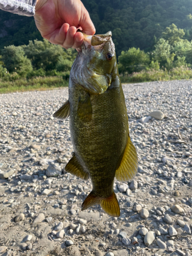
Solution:
<svg viewBox="0 0 192 256">
<path fill-rule="evenodd" d="M 72 156 L 69 119 L 52 114 L 68 89 L 0 95 L 1 255 L 192 255 L 192 82 L 123 86 L 138 156 L 134 181 L 115 181 L 120 218 L 63 167 Z M 148 117 L 161 111 L 162 120 Z"/>
</svg>

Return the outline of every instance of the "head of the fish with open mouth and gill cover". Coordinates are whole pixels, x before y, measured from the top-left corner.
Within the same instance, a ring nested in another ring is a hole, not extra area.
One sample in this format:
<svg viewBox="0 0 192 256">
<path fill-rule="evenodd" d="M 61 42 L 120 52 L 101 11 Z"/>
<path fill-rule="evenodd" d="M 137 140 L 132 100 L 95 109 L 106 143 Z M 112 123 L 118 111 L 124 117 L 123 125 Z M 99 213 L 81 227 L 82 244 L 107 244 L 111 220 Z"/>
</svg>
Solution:
<svg viewBox="0 0 192 256">
<path fill-rule="evenodd" d="M 110 87 L 116 63 L 115 46 L 111 31 L 102 35 L 84 35 L 70 76 L 84 89 L 101 94 Z"/>
</svg>

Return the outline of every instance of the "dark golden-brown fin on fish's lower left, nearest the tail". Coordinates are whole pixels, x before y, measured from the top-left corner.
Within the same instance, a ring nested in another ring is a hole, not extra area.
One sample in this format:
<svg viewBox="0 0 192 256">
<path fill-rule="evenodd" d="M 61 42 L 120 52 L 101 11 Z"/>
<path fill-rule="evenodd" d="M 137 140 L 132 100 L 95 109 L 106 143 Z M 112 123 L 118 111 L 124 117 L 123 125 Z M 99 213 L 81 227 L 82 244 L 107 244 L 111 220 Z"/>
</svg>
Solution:
<svg viewBox="0 0 192 256">
<path fill-rule="evenodd" d="M 89 178 L 89 175 L 86 172 L 84 172 L 82 166 L 80 165 L 75 155 L 73 155 L 73 157 L 69 160 L 65 167 L 65 170 L 67 173 L 76 175 L 81 179 L 88 180 Z"/>
</svg>

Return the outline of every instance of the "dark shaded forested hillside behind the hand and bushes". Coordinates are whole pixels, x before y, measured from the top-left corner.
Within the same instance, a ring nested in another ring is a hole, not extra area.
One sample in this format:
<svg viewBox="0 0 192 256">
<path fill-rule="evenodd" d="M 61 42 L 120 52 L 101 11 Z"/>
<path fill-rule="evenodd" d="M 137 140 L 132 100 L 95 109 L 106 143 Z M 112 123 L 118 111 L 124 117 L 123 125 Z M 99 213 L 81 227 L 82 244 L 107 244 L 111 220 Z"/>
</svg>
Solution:
<svg viewBox="0 0 192 256">
<path fill-rule="evenodd" d="M 96 33 L 111 30 L 116 51 L 130 47 L 150 51 L 154 36 L 161 36 L 165 27 L 175 24 L 185 30 L 185 38 L 192 39 L 191 0 L 82 0 L 88 9 Z M 41 39 L 33 17 L 0 11 L 0 48 L 24 45 Z"/>
</svg>

